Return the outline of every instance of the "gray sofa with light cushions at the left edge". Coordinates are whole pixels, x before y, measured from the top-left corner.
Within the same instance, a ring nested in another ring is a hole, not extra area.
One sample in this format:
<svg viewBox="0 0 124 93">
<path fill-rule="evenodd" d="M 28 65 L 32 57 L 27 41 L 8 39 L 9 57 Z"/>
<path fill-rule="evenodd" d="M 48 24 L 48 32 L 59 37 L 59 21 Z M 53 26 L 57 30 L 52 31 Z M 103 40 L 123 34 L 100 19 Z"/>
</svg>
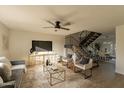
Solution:
<svg viewBox="0 0 124 93">
<path fill-rule="evenodd" d="M 24 60 L 9 61 L 0 60 L 0 77 L 3 82 L 0 83 L 1 88 L 19 88 L 22 77 L 26 72 Z"/>
</svg>

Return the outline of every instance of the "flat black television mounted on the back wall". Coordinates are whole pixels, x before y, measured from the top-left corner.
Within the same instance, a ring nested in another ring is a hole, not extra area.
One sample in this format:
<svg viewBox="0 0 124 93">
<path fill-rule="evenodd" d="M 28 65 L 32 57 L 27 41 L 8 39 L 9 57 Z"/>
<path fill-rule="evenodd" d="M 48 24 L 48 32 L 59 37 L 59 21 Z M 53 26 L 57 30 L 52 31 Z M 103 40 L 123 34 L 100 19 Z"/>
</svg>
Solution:
<svg viewBox="0 0 124 93">
<path fill-rule="evenodd" d="M 33 51 L 52 51 L 52 41 L 32 40 Z"/>
</svg>

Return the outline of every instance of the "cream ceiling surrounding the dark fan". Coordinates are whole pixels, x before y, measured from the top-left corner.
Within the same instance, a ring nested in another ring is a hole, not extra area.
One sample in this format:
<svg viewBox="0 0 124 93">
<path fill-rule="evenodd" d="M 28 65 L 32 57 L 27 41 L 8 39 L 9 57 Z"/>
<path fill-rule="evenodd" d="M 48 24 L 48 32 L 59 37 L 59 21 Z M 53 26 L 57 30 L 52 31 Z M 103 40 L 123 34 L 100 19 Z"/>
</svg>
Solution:
<svg viewBox="0 0 124 93">
<path fill-rule="evenodd" d="M 70 31 L 54 28 L 45 20 L 72 22 Z M 0 6 L 0 21 L 11 30 L 67 35 L 82 30 L 111 32 L 124 24 L 124 6 Z"/>
</svg>

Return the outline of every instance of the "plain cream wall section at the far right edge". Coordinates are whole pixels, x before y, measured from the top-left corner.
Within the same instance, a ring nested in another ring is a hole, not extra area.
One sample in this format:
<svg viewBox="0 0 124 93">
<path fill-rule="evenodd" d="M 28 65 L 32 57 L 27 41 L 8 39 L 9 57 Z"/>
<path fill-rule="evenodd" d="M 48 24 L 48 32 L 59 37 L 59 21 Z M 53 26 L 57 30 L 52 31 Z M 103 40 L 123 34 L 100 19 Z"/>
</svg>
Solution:
<svg viewBox="0 0 124 93">
<path fill-rule="evenodd" d="M 116 27 L 116 72 L 124 74 L 124 25 Z"/>
</svg>

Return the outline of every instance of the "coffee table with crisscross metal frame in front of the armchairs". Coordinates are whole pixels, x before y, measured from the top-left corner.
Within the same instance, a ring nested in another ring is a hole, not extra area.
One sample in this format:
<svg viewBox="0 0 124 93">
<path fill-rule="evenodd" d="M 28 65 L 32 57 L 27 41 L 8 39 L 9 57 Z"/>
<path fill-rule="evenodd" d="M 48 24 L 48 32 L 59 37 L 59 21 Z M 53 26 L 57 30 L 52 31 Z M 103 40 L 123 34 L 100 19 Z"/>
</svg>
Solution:
<svg viewBox="0 0 124 93">
<path fill-rule="evenodd" d="M 51 86 L 66 80 L 66 70 L 61 67 L 48 66 L 46 72 L 48 72 L 47 79 Z"/>
</svg>

